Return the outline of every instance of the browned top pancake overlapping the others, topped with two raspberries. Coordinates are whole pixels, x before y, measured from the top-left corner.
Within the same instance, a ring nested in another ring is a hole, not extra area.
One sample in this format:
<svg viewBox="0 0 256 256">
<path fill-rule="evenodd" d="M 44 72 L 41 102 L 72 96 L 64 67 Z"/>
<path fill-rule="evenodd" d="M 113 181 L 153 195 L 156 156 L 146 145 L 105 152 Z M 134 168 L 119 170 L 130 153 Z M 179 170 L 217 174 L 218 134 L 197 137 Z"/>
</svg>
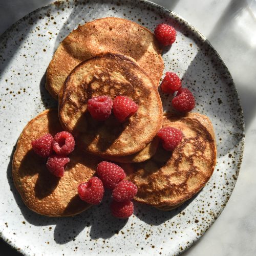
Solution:
<svg viewBox="0 0 256 256">
<path fill-rule="evenodd" d="M 138 111 L 119 123 L 112 114 L 94 120 L 87 111 L 90 98 L 118 95 L 132 98 Z M 80 63 L 67 77 L 59 100 L 59 119 L 76 143 L 91 154 L 127 156 L 142 150 L 162 125 L 162 102 L 151 79 L 130 57 L 105 53 Z"/>
</svg>

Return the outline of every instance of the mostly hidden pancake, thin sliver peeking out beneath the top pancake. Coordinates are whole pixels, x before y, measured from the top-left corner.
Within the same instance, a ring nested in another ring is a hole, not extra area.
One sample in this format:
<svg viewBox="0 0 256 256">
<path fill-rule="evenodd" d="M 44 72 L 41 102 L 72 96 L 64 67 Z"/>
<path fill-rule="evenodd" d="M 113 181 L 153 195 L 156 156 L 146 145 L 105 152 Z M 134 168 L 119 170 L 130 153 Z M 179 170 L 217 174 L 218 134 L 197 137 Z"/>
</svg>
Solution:
<svg viewBox="0 0 256 256">
<path fill-rule="evenodd" d="M 117 163 L 139 163 L 144 162 L 150 158 L 152 158 L 159 144 L 158 137 L 155 137 L 150 143 L 148 143 L 143 150 L 129 156 L 120 156 L 120 157 L 108 157 L 106 159 L 111 160 Z"/>
</svg>

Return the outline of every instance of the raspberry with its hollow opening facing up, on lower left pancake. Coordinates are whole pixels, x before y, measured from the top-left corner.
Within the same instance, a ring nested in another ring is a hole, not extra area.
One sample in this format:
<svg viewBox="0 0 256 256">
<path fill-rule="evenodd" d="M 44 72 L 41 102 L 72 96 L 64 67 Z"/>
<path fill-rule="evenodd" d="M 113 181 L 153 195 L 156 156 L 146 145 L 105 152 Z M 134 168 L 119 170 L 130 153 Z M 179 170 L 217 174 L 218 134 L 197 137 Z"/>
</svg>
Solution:
<svg viewBox="0 0 256 256">
<path fill-rule="evenodd" d="M 75 139 L 72 134 L 68 132 L 63 131 L 57 133 L 54 136 L 52 147 L 56 154 L 67 156 L 74 150 Z"/>
</svg>

